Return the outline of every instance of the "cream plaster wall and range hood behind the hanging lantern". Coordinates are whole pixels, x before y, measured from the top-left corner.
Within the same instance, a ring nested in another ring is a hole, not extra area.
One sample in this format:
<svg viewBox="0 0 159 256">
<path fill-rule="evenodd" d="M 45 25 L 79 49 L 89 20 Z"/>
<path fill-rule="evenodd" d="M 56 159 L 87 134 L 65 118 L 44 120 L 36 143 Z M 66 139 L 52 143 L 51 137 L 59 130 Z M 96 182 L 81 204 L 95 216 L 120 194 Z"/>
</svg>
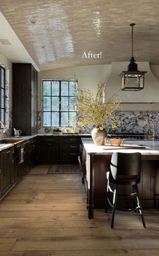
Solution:
<svg viewBox="0 0 159 256">
<path fill-rule="evenodd" d="M 81 87 L 96 93 L 97 84 L 107 82 L 107 91 L 111 95 L 121 89 L 119 74 L 127 70 L 127 62 L 113 62 L 108 65 L 78 66 L 60 68 L 38 73 L 38 110 L 41 110 L 42 79 L 77 79 Z M 145 88 L 141 91 L 120 91 L 123 110 L 159 110 L 159 66 L 151 66 L 149 62 L 137 63 L 139 70 L 146 73 Z M 144 69 L 143 69 L 144 68 Z M 135 104 L 134 104 L 135 102 Z"/>
</svg>

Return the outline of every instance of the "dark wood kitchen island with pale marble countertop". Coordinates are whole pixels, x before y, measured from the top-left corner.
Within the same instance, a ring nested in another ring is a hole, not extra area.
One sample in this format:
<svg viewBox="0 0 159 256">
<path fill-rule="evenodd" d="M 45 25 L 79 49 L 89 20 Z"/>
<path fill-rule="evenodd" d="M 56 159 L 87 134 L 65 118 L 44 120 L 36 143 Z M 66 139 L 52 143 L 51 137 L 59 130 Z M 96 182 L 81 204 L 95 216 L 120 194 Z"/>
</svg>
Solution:
<svg viewBox="0 0 159 256">
<path fill-rule="evenodd" d="M 145 208 L 155 208 L 159 194 L 159 141 L 125 141 L 122 146 L 95 146 L 91 139 L 82 139 L 82 175 L 86 186 L 88 217 L 94 208 L 104 208 L 106 202 L 106 171 L 113 152 L 141 152 L 141 182 L 138 186 Z M 128 186 L 129 187 L 129 186 Z M 130 188 L 126 188 L 125 193 Z"/>
</svg>

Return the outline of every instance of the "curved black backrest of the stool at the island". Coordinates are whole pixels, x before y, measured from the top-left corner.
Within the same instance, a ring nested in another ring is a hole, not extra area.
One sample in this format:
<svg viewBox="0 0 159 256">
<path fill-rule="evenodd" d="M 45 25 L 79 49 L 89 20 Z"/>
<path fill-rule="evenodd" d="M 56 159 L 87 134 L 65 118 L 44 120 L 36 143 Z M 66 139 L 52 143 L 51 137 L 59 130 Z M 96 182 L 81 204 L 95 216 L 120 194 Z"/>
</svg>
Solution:
<svg viewBox="0 0 159 256">
<path fill-rule="evenodd" d="M 110 163 L 110 179 L 114 179 L 115 182 L 117 175 L 137 175 L 135 182 L 139 183 L 141 176 L 141 153 L 113 153 Z"/>
</svg>

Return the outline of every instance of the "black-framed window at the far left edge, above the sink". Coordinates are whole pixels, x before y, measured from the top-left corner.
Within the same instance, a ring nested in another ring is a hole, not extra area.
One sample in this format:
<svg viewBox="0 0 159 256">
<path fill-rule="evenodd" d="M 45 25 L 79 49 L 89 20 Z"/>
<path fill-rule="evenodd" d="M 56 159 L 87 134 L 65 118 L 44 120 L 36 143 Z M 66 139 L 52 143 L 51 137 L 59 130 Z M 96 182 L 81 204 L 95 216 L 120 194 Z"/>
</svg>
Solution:
<svg viewBox="0 0 159 256">
<path fill-rule="evenodd" d="M 3 70 L 3 85 L 2 85 L 2 70 Z M 3 66 L 0 65 L 0 121 L 3 121 L 3 123 L 5 123 L 5 68 L 3 68 Z M 3 91 L 3 93 L 2 93 Z M 3 106 L 2 106 L 2 95 L 3 95 Z M 2 116 L 2 110 L 3 110 L 3 116 Z M 0 129 L 3 129 L 2 125 L 0 124 Z"/>
</svg>

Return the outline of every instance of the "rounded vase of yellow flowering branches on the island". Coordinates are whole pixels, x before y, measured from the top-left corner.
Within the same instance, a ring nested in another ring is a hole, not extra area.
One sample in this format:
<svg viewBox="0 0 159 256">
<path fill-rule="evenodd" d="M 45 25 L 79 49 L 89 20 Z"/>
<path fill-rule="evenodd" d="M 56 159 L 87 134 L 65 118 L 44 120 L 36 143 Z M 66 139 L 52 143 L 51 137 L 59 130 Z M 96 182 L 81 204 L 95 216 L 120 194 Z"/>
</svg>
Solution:
<svg viewBox="0 0 159 256">
<path fill-rule="evenodd" d="M 92 125 L 92 139 L 96 145 L 103 145 L 106 138 L 106 126 L 119 125 L 115 110 L 119 108 L 121 98 L 118 93 L 109 99 L 105 97 L 106 83 L 99 83 L 97 93 L 77 87 L 77 125 Z"/>
</svg>

